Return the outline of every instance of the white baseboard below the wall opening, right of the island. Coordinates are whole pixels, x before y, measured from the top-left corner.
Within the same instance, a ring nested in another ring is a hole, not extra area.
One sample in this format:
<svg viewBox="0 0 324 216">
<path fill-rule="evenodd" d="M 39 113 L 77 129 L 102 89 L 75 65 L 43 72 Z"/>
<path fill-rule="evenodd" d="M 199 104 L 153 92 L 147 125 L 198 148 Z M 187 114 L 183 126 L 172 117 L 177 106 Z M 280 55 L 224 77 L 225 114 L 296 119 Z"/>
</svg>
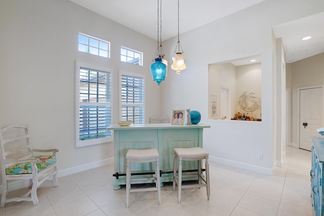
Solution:
<svg viewBox="0 0 324 216">
<path fill-rule="evenodd" d="M 272 176 L 272 169 L 271 168 L 251 165 L 251 164 L 248 164 L 248 163 L 242 163 L 242 162 L 237 162 L 237 161 L 234 161 L 234 160 L 228 160 L 228 159 L 218 158 L 218 157 L 213 157 L 213 156 L 209 156 L 209 161 L 213 161 L 213 162 L 216 162 L 216 163 L 221 163 L 221 164 L 225 164 L 225 165 L 229 165 L 229 166 L 234 166 L 234 167 L 237 167 L 237 168 L 247 169 L 247 170 L 251 170 L 251 171 L 255 171 L 255 172 L 260 172 L 262 174 Z"/>
</svg>

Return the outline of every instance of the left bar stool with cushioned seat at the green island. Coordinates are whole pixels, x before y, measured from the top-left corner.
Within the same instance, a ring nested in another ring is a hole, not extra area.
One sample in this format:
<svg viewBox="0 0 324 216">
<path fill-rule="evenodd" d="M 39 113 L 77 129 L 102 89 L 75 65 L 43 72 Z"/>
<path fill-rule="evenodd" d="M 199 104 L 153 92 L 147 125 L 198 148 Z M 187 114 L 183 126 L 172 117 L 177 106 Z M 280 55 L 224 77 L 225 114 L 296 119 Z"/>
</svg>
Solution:
<svg viewBox="0 0 324 216">
<path fill-rule="evenodd" d="M 155 163 L 155 177 L 131 178 L 132 163 Z M 157 191 L 158 204 L 161 204 L 160 175 L 158 165 L 158 152 L 156 149 L 129 149 L 126 154 L 126 206 L 129 207 L 129 198 L 131 192 Z M 134 181 L 155 180 L 155 187 L 131 189 L 131 183 Z"/>
</svg>

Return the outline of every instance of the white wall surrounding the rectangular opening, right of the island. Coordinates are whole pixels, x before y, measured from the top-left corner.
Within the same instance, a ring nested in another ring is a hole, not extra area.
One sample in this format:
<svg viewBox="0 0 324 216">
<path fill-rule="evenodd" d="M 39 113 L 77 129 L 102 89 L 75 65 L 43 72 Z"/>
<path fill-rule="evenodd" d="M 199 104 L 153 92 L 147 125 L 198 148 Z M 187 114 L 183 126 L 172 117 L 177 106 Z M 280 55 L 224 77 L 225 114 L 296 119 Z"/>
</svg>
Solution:
<svg viewBox="0 0 324 216">
<path fill-rule="evenodd" d="M 294 10 L 292 10 L 294 7 Z M 271 172 L 275 164 L 276 82 L 275 38 L 271 27 L 323 11 L 322 1 L 264 1 L 251 8 L 180 35 L 187 68 L 177 75 L 169 71 L 163 87 L 163 112 L 194 109 L 204 130 L 204 148 L 216 161 Z M 180 16 L 181 19 L 181 16 Z M 184 22 L 184 21 L 182 21 Z M 181 26 L 180 26 L 181 27 Z M 174 56 L 177 38 L 164 42 L 168 61 Z M 169 51 L 169 52 L 168 52 Z M 274 53 L 274 54 L 273 54 Z M 208 65 L 248 56 L 262 57 L 262 122 L 215 121 L 208 119 Z M 172 97 L 177 93 L 178 97 Z M 259 160 L 258 155 L 264 154 Z"/>
</svg>

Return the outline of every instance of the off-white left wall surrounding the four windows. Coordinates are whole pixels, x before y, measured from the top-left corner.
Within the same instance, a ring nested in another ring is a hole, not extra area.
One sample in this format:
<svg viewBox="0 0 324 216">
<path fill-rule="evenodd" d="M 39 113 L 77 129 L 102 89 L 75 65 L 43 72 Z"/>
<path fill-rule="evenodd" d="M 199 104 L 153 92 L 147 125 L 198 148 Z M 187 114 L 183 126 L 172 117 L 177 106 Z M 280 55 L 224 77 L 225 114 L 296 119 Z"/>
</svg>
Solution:
<svg viewBox="0 0 324 216">
<path fill-rule="evenodd" d="M 67 0 L 2 1 L 0 29 L 0 126 L 28 124 L 34 148 L 60 150 L 61 174 L 113 161 L 113 143 L 75 148 L 75 60 L 112 67 L 114 83 L 119 69 L 144 73 L 146 122 L 161 112 L 149 70 L 153 39 Z M 110 41 L 111 58 L 78 52 L 78 32 Z M 120 46 L 143 52 L 144 66 L 120 62 Z M 112 92 L 118 120 L 118 84 Z"/>
</svg>

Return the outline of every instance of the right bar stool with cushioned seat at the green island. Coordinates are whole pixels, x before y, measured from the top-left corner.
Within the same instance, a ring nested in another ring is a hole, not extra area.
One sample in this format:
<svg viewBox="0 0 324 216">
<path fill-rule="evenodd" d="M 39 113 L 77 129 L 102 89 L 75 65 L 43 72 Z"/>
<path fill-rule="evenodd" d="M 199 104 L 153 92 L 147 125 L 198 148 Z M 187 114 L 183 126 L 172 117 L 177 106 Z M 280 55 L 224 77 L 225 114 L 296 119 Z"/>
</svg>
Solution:
<svg viewBox="0 0 324 216">
<path fill-rule="evenodd" d="M 178 186 L 178 203 L 181 201 L 181 189 L 184 188 L 200 188 L 206 187 L 207 189 L 207 199 L 210 198 L 210 183 L 209 183 L 209 163 L 208 163 L 209 153 L 200 147 L 195 148 L 175 148 L 174 149 L 174 164 L 173 164 L 173 190 Z M 179 159 L 179 170 L 177 175 L 177 158 Z M 204 178 L 201 173 L 201 160 L 206 159 L 206 177 Z M 198 161 L 198 173 L 184 175 L 184 177 L 197 177 L 197 184 L 182 185 L 182 160 L 197 160 Z M 201 184 L 201 180 L 205 184 Z"/>
</svg>

